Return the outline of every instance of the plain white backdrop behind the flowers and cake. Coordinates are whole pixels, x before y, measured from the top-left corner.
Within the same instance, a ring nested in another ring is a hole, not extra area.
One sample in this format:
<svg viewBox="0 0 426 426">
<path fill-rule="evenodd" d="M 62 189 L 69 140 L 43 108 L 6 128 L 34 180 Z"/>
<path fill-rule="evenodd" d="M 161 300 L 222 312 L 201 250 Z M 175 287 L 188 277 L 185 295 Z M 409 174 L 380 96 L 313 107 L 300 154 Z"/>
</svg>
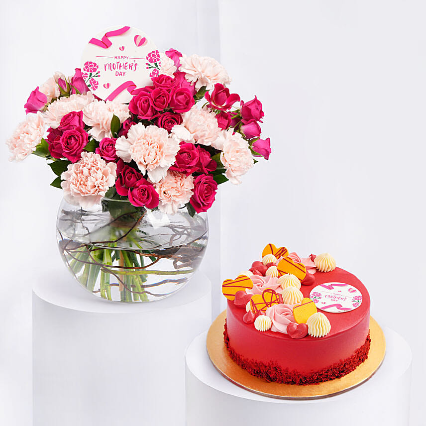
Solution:
<svg viewBox="0 0 426 426">
<path fill-rule="evenodd" d="M 222 279 L 233 278 L 268 242 L 303 255 L 331 252 L 368 287 L 372 315 L 411 345 L 411 423 L 420 425 L 425 3 L 222 0 L 220 39 L 216 3 L 196 6 L 195 0 L 5 4 L 3 139 L 24 118 L 30 91 L 53 71 L 72 74 L 83 46 L 102 28 L 133 25 L 160 49 L 220 52 L 231 91 L 262 101 L 273 152 L 239 187 L 221 186 L 204 269 L 218 281 L 220 263 Z M 4 145 L 0 152 L 0 424 L 21 426 L 31 423 L 31 277 L 47 265 L 61 267 L 54 235 L 61 193 L 48 186 L 53 177 L 41 159 L 12 164 Z"/>
</svg>

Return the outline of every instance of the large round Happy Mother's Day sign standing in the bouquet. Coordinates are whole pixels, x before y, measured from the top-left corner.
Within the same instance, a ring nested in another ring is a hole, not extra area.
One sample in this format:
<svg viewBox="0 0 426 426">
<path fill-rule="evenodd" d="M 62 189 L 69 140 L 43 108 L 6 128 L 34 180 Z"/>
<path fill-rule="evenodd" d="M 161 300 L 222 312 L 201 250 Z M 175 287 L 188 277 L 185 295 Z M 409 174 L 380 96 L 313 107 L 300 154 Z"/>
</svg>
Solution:
<svg viewBox="0 0 426 426">
<path fill-rule="evenodd" d="M 135 89 L 150 85 L 158 76 L 160 54 L 143 31 L 113 26 L 90 39 L 83 51 L 81 70 L 93 94 L 125 104 Z"/>
</svg>

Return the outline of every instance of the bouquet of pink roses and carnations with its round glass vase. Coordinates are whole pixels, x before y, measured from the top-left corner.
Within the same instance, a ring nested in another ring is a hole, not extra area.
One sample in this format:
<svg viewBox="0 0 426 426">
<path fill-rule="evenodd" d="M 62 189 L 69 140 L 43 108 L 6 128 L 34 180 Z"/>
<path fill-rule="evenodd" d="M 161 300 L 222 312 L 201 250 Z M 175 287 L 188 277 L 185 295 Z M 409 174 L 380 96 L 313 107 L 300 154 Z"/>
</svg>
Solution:
<svg viewBox="0 0 426 426">
<path fill-rule="evenodd" d="M 108 300 L 156 300 L 182 287 L 203 257 L 217 186 L 239 184 L 271 152 L 260 138 L 262 104 L 231 94 L 216 60 L 155 50 L 146 65 L 152 84 L 128 104 L 92 93 L 103 72 L 96 62 L 72 77 L 55 73 L 31 92 L 7 141 L 11 160 L 47 160 L 51 185 L 63 190 L 63 260 Z"/>
</svg>

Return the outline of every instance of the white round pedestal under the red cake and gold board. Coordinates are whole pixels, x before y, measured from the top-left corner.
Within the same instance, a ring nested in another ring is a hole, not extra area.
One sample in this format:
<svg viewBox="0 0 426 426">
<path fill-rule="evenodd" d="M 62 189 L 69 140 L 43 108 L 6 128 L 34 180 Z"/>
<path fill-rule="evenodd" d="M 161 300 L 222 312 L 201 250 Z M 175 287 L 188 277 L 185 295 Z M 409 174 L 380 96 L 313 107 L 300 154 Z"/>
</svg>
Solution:
<svg viewBox="0 0 426 426">
<path fill-rule="evenodd" d="M 318 400 L 268 398 L 242 389 L 214 368 L 206 349 L 207 332 L 186 352 L 187 426 L 409 424 L 411 350 L 395 331 L 383 328 L 386 355 L 367 382 Z"/>
</svg>

